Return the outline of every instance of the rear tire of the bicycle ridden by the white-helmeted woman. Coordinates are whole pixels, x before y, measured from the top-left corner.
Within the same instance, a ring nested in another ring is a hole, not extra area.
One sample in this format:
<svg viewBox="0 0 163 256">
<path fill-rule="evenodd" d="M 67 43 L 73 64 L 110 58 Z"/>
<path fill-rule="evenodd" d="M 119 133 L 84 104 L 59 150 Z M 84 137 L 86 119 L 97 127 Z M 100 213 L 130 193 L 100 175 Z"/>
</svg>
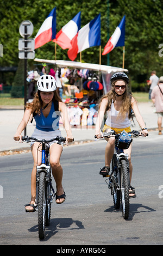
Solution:
<svg viewBox="0 0 163 256">
<path fill-rule="evenodd" d="M 45 225 L 48 226 L 51 221 L 51 185 L 49 182 L 46 182 L 46 189 L 45 189 L 47 204 L 46 204 L 46 211 L 45 211 Z"/>
</svg>

